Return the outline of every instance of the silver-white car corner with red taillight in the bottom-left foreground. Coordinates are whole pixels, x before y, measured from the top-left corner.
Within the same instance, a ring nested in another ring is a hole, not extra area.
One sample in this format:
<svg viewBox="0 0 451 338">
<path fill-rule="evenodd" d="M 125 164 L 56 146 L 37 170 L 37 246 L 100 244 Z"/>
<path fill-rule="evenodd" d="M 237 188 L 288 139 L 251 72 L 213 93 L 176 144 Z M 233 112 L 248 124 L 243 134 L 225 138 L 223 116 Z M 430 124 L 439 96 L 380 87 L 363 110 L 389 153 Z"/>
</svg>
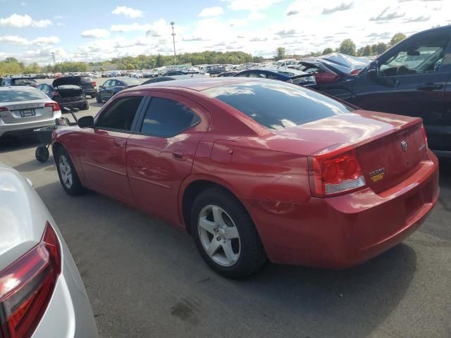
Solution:
<svg viewBox="0 0 451 338">
<path fill-rule="evenodd" d="M 98 337 L 55 221 L 31 183 L 1 163 L 0 337 Z"/>
</svg>

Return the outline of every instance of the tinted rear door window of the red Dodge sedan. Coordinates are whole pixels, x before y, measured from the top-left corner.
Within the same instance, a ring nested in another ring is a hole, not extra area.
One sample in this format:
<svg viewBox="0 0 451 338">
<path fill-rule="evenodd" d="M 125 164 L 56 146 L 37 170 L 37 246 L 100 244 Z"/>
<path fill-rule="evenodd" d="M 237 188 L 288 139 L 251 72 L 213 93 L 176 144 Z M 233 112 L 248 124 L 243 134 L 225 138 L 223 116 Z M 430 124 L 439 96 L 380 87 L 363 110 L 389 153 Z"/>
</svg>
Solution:
<svg viewBox="0 0 451 338">
<path fill-rule="evenodd" d="M 199 123 L 199 116 L 180 102 L 153 97 L 141 132 L 149 136 L 173 137 Z"/>
</svg>

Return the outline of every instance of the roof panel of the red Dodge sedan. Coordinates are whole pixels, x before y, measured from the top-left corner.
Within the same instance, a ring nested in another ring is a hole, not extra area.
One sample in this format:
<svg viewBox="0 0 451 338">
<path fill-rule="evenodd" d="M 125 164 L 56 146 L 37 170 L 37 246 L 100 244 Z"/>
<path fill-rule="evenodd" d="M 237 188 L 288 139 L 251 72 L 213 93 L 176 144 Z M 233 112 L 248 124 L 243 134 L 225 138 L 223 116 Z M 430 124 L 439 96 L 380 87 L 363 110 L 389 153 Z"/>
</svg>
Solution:
<svg viewBox="0 0 451 338">
<path fill-rule="evenodd" d="M 140 89 L 148 87 L 149 89 L 154 89 L 156 87 L 176 87 L 183 89 L 190 89 L 197 92 L 202 92 L 205 89 L 221 87 L 230 84 L 244 84 L 248 82 L 257 82 L 257 81 L 268 81 L 266 79 L 258 79 L 258 78 L 249 78 L 249 77 L 193 77 L 190 79 L 184 80 L 172 80 L 167 82 L 156 82 L 151 84 L 144 84 L 140 86 Z M 126 89 L 127 92 L 132 92 L 133 89 Z"/>
</svg>

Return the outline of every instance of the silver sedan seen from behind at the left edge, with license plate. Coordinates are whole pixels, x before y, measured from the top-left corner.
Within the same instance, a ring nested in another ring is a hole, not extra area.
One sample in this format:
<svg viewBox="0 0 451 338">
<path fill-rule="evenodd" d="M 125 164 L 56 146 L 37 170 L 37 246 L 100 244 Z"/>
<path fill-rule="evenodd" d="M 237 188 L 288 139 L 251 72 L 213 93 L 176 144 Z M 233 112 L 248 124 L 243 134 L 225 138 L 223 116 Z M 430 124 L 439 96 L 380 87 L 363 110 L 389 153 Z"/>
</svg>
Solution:
<svg viewBox="0 0 451 338">
<path fill-rule="evenodd" d="M 54 125 L 56 118 L 61 118 L 60 107 L 39 89 L 0 87 L 0 137 Z"/>
</svg>

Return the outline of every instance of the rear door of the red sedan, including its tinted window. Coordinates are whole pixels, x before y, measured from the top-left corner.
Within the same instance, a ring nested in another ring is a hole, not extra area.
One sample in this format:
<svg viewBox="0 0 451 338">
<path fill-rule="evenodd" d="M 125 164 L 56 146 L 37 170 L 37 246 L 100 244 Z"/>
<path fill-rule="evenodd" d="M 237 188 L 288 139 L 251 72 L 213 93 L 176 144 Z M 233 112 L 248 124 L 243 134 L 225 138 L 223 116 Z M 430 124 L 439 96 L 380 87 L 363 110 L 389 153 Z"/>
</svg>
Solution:
<svg viewBox="0 0 451 338">
<path fill-rule="evenodd" d="M 180 184 L 191 173 L 197 146 L 210 120 L 205 108 L 185 96 L 152 93 L 125 152 L 137 206 L 180 223 Z"/>
</svg>

